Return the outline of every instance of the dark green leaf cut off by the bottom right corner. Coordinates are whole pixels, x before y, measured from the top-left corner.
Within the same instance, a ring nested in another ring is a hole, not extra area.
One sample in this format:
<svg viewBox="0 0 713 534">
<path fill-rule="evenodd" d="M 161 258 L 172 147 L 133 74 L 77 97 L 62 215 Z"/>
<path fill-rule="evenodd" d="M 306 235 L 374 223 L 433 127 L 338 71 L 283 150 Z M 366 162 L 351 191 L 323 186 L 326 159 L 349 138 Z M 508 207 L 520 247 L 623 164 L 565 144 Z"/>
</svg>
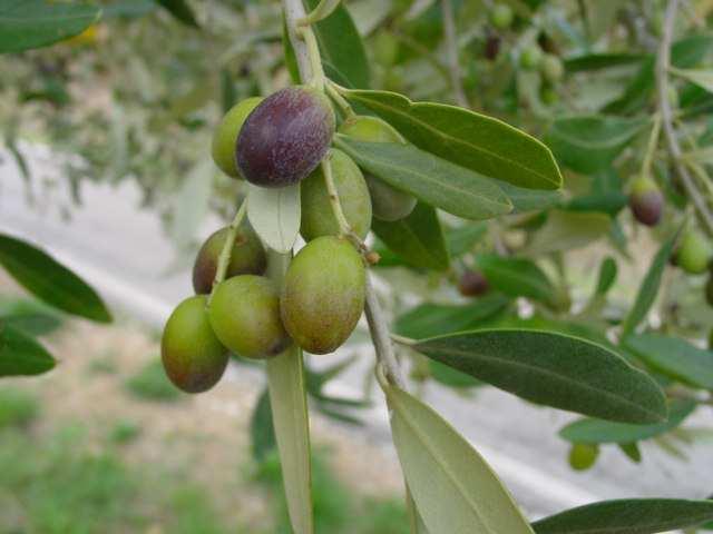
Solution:
<svg viewBox="0 0 713 534">
<path fill-rule="evenodd" d="M 655 534 L 713 518 L 713 501 L 627 498 L 567 510 L 533 523 L 537 534 Z"/>
</svg>

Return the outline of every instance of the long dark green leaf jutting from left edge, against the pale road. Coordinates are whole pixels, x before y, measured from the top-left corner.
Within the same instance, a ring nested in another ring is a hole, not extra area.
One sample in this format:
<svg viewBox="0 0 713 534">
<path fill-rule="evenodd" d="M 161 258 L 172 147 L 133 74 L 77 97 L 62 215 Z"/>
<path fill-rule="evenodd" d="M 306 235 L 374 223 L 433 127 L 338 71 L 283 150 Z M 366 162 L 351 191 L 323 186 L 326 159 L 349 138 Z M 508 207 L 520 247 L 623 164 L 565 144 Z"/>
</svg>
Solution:
<svg viewBox="0 0 713 534">
<path fill-rule="evenodd" d="M 99 295 L 39 248 L 0 234 L 0 265 L 22 287 L 50 306 L 97 323 L 111 322 Z"/>
</svg>

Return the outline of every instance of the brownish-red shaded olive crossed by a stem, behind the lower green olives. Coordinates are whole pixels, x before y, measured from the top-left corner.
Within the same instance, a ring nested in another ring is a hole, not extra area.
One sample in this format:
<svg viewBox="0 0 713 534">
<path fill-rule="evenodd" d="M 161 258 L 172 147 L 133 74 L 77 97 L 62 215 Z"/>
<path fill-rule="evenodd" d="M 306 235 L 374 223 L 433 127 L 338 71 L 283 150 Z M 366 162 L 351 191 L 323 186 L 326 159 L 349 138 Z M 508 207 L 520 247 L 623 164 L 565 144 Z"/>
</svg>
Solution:
<svg viewBox="0 0 713 534">
<path fill-rule="evenodd" d="M 201 247 L 193 265 L 193 288 L 197 294 L 211 293 L 218 266 L 218 257 L 228 231 L 229 228 L 227 227 L 217 230 Z M 266 267 L 265 249 L 253 227 L 245 220 L 237 229 L 235 244 L 231 251 L 231 260 L 227 264 L 226 276 L 262 275 L 265 273 Z"/>
</svg>

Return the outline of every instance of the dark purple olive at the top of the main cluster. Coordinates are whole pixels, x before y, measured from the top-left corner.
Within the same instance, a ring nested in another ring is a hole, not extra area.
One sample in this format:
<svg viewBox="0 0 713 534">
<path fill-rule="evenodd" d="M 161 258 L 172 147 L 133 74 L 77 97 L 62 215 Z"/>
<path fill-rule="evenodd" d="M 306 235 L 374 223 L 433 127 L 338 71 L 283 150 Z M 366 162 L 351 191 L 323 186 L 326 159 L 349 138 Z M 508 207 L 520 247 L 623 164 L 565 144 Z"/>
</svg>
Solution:
<svg viewBox="0 0 713 534">
<path fill-rule="evenodd" d="M 287 87 L 265 98 L 237 137 L 237 168 L 247 181 L 284 187 L 306 178 L 334 135 L 329 99 L 310 87 Z"/>
</svg>

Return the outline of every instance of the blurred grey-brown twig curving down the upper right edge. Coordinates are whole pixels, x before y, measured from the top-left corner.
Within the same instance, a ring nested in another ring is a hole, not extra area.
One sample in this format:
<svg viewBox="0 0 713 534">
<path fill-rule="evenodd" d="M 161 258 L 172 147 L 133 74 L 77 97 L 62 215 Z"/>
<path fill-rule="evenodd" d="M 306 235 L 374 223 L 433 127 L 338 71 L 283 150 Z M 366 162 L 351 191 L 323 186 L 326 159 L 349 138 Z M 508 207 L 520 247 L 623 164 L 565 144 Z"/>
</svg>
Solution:
<svg viewBox="0 0 713 534">
<path fill-rule="evenodd" d="M 668 101 L 668 69 L 671 67 L 671 43 L 673 40 L 673 27 L 678 9 L 678 0 L 668 0 L 664 18 L 664 31 L 658 47 L 658 61 L 656 63 L 656 87 L 658 89 L 658 108 L 661 110 L 661 125 L 666 137 L 668 154 L 676 169 L 676 174 L 681 178 L 687 197 L 693 202 L 696 212 L 706 233 L 713 236 L 713 215 L 705 205 L 705 199 L 699 191 L 693 178 L 688 174 L 688 169 L 682 161 L 682 150 L 676 139 L 676 132 L 673 128 L 673 113 L 671 102 Z"/>
</svg>

